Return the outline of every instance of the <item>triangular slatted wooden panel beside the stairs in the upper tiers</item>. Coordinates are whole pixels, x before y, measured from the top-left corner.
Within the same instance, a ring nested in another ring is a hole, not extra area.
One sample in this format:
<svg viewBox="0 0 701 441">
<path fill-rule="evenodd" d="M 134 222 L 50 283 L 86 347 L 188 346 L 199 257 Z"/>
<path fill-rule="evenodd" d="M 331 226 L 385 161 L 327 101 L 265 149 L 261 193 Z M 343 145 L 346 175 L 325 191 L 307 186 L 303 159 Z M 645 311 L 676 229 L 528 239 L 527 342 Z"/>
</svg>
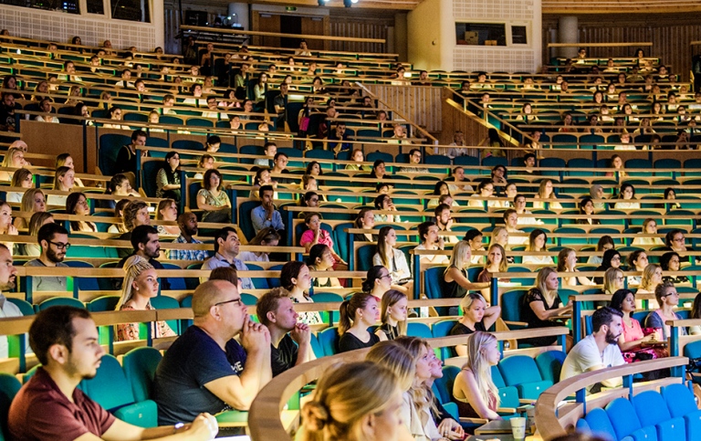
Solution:
<svg viewBox="0 0 701 441">
<path fill-rule="evenodd" d="M 442 131 L 441 101 L 443 88 L 430 86 L 366 85 L 390 108 L 397 110 L 427 131 Z"/>
</svg>

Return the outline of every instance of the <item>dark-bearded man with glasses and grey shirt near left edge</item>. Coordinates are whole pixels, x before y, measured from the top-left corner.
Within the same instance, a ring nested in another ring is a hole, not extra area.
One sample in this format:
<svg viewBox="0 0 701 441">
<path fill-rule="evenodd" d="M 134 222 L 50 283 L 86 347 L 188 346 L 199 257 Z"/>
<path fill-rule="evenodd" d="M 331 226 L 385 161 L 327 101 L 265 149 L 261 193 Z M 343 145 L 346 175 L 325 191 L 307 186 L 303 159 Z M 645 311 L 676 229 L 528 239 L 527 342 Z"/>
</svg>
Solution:
<svg viewBox="0 0 701 441">
<path fill-rule="evenodd" d="M 70 247 L 68 231 L 58 224 L 47 224 L 39 228 L 37 242 L 41 247 L 41 256 L 26 262 L 25 267 L 68 268 L 63 263 Z M 36 276 L 32 278 L 35 291 L 66 291 L 66 278 L 62 276 Z"/>
</svg>

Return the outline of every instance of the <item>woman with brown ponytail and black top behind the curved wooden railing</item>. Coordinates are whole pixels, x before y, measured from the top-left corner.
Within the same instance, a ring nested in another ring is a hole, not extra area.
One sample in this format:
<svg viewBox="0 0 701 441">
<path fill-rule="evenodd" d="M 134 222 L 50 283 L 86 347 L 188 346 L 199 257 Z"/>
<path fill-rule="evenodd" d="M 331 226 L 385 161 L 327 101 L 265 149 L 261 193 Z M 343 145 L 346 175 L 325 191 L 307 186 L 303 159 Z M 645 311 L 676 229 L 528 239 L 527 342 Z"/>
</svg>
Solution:
<svg viewBox="0 0 701 441">
<path fill-rule="evenodd" d="M 366 292 L 357 292 L 339 308 L 339 352 L 370 348 L 380 338 L 368 328 L 380 320 L 377 299 Z"/>
</svg>

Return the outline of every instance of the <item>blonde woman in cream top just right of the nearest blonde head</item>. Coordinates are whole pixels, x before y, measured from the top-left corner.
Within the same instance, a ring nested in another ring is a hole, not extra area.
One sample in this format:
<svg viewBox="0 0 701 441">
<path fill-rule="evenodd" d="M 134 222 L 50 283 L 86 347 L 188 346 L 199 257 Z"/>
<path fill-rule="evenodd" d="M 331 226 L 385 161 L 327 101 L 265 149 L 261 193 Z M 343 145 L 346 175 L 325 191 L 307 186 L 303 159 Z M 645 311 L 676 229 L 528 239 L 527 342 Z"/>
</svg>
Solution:
<svg viewBox="0 0 701 441">
<path fill-rule="evenodd" d="M 431 365 L 434 353 L 428 341 L 417 337 L 399 337 L 394 343 L 402 346 L 412 356 L 415 372 L 412 385 L 404 393 L 402 419 L 414 440 L 447 440 L 438 432 L 432 412 L 437 413 L 434 393 L 427 383 L 432 381 Z"/>
</svg>

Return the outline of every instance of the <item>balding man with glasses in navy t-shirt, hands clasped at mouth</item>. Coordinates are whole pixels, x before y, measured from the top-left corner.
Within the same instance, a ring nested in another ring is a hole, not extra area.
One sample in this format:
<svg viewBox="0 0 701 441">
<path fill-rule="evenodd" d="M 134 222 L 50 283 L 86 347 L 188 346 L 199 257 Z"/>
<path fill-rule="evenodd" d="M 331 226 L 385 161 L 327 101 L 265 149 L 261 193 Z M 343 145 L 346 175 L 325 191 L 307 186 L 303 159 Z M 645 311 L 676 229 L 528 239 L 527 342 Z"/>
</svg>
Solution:
<svg viewBox="0 0 701 441">
<path fill-rule="evenodd" d="M 231 282 L 197 287 L 193 312 L 194 325 L 173 341 L 155 373 L 159 425 L 192 421 L 204 412 L 246 411 L 272 378 L 270 333 L 249 319 Z"/>
</svg>

